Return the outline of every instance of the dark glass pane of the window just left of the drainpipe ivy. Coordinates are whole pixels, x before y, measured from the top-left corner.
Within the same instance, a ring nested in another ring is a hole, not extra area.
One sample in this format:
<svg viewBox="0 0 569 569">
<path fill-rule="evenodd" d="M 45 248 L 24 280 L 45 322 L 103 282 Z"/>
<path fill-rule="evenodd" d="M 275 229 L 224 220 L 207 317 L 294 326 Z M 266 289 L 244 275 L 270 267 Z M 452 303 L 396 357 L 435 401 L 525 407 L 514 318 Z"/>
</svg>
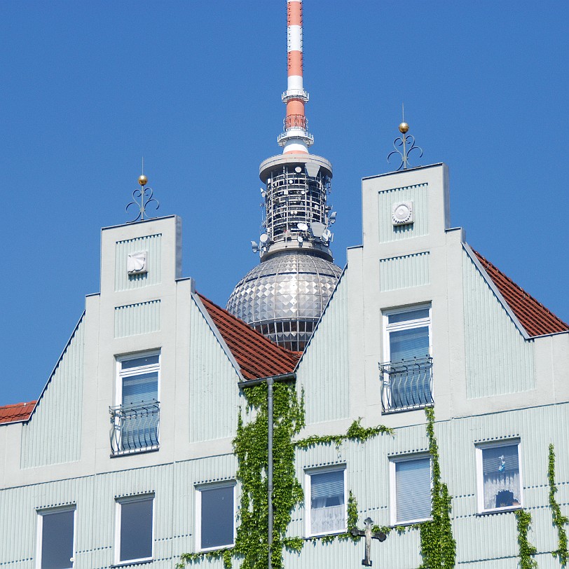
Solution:
<svg viewBox="0 0 569 569">
<path fill-rule="evenodd" d="M 233 544 L 233 486 L 201 493 L 202 549 Z"/>
</svg>

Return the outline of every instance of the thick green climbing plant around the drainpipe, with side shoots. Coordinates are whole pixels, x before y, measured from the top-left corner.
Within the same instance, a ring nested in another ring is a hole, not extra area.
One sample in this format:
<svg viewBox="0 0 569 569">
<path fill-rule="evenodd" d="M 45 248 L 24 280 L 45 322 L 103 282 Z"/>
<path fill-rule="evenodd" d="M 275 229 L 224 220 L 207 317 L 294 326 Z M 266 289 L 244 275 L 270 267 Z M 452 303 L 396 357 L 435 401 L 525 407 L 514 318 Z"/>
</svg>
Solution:
<svg viewBox="0 0 569 569">
<path fill-rule="evenodd" d="M 238 528 L 235 547 L 216 551 L 187 553 L 180 556 L 177 568 L 202 559 L 223 558 L 224 567 L 231 569 L 235 557 L 242 559 L 242 569 L 266 569 L 268 559 L 268 407 L 267 385 L 256 385 L 244 390 L 247 400 L 244 422 L 242 411 L 238 415 L 237 435 L 233 448 L 238 459 L 236 477 L 241 485 L 238 505 Z M 296 448 L 309 448 L 317 444 L 336 444 L 343 441 L 364 442 L 378 434 L 392 434 L 393 430 L 378 425 L 362 427 L 361 418 L 355 420 L 345 434 L 307 437 L 295 440 L 304 427 L 304 396 L 299 398 L 293 383 L 275 383 L 273 386 L 273 569 L 282 569 L 282 551 L 301 551 L 306 540 L 286 537 L 294 508 L 303 502 L 302 486 L 296 479 L 294 453 Z M 348 496 L 348 530 L 337 535 L 311 538 L 313 541 L 359 541 L 352 535 L 357 529 L 357 502 L 350 491 Z M 389 528 L 382 528 L 383 530 Z"/>
</svg>

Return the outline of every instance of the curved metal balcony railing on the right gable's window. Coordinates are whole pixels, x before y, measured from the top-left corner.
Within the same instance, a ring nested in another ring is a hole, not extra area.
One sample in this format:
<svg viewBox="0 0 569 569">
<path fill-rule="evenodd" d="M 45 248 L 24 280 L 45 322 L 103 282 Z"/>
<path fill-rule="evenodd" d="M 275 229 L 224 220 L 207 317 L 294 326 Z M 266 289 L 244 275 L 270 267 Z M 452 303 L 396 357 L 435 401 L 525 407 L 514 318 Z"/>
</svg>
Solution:
<svg viewBox="0 0 569 569">
<path fill-rule="evenodd" d="M 384 413 L 421 409 L 433 404 L 432 357 L 379 364 L 383 373 Z"/>
</svg>

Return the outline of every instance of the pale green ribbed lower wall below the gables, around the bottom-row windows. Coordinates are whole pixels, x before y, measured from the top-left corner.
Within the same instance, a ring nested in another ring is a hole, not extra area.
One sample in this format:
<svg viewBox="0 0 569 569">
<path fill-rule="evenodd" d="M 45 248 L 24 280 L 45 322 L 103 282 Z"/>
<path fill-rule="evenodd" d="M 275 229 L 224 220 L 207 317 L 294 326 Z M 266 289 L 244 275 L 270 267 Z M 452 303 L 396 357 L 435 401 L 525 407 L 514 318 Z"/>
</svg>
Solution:
<svg viewBox="0 0 569 569">
<path fill-rule="evenodd" d="M 556 547 L 556 531 L 548 507 L 547 453 L 556 446 L 556 495 L 563 514 L 569 513 L 569 439 L 566 425 L 569 404 L 491 413 L 436 423 L 442 480 L 453 495 L 453 534 L 458 567 L 515 568 L 518 563 L 516 519 L 512 512 L 477 514 L 477 444 L 520 441 L 523 505 L 533 516 L 530 542 L 540 555 L 540 568 L 553 568 L 547 552 Z M 358 524 L 370 516 L 374 523 L 390 523 L 389 459 L 425 453 L 425 424 L 399 427 L 394 435 L 380 435 L 364 443 L 345 441 L 317 445 L 296 453 L 296 474 L 305 487 L 307 469 L 346 469 L 346 491 L 358 505 Z M 0 566 L 32 569 L 35 556 L 36 511 L 75 505 L 76 569 L 108 568 L 114 561 L 116 498 L 153 493 L 153 568 L 172 568 L 179 555 L 196 550 L 196 485 L 233 480 L 235 456 L 174 462 L 97 476 L 62 480 L 0 491 Z M 305 488 L 306 490 L 306 488 Z M 306 537 L 305 507 L 293 513 L 290 536 Z M 285 551 L 285 567 L 343 569 L 359 566 L 364 542 L 306 542 L 301 554 Z M 392 532 L 388 540 L 372 544 L 373 565 L 416 569 L 420 564 L 419 532 Z M 557 563 L 557 562 L 556 562 Z M 221 561 L 198 567 L 219 568 Z M 239 563 L 235 563 L 237 568 Z"/>
</svg>

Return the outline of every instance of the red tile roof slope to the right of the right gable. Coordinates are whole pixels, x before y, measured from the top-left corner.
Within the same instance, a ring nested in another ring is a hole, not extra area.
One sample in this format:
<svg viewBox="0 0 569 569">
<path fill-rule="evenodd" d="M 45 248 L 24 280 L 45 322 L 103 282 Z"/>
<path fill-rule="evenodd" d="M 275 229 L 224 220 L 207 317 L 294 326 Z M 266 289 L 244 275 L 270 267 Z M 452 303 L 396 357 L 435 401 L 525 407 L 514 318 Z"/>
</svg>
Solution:
<svg viewBox="0 0 569 569">
<path fill-rule="evenodd" d="M 565 324 L 542 303 L 537 302 L 533 296 L 516 285 L 512 279 L 490 261 L 484 259 L 480 253 L 474 249 L 472 251 L 530 336 L 542 336 L 542 334 L 555 334 L 569 330 L 569 324 Z"/>
</svg>

